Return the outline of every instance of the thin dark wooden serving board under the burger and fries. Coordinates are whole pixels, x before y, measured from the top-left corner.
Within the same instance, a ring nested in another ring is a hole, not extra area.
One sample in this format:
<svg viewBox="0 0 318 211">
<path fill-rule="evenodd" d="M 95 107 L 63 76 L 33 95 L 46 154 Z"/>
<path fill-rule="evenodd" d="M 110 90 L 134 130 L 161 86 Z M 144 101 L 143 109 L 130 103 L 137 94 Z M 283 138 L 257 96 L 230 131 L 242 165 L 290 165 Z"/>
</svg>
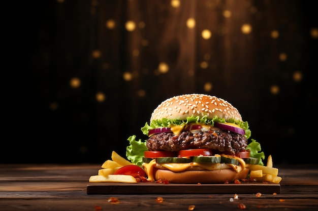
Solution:
<svg viewBox="0 0 318 211">
<path fill-rule="evenodd" d="M 280 193 L 280 184 L 89 183 L 87 194 L 255 194 Z"/>
</svg>

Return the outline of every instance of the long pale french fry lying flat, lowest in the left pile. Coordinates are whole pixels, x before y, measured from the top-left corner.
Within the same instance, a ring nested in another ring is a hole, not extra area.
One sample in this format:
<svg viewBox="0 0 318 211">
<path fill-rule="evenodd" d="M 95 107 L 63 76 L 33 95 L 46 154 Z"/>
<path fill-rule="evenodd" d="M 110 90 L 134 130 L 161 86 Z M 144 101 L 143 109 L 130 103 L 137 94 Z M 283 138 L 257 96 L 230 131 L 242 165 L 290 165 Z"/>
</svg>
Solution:
<svg viewBox="0 0 318 211">
<path fill-rule="evenodd" d="M 93 175 L 89 182 L 108 182 L 108 183 L 137 183 L 137 180 L 131 175 Z"/>
</svg>

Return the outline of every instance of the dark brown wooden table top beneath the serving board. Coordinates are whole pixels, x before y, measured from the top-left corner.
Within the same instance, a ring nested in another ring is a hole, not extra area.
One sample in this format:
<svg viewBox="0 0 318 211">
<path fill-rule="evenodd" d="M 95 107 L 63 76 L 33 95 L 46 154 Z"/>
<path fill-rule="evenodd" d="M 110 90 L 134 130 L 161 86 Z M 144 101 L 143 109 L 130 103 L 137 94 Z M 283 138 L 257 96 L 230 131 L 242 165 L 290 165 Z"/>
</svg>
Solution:
<svg viewBox="0 0 318 211">
<path fill-rule="evenodd" d="M 237 198 L 235 192 L 87 194 L 88 179 L 100 167 L 0 164 L 0 210 L 239 210 L 242 204 L 246 210 L 318 210 L 318 164 L 274 166 L 282 177 L 279 194 L 237 194 Z M 157 202 L 158 197 L 163 201 Z"/>
</svg>

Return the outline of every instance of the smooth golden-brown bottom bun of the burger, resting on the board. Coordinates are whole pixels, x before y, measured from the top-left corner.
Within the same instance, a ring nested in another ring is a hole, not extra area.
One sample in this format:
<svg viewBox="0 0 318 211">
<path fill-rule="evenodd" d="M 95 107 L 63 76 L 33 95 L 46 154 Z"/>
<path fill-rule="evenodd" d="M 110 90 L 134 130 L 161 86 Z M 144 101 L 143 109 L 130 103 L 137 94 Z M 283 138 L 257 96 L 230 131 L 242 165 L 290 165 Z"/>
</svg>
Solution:
<svg viewBox="0 0 318 211">
<path fill-rule="evenodd" d="M 235 172 L 231 168 L 213 171 L 201 170 L 183 172 L 172 172 L 169 170 L 157 169 L 154 173 L 154 178 L 155 180 L 168 180 L 170 183 L 220 184 L 245 179 L 248 172 L 248 168 L 244 168 L 244 170 L 239 173 Z"/>
</svg>

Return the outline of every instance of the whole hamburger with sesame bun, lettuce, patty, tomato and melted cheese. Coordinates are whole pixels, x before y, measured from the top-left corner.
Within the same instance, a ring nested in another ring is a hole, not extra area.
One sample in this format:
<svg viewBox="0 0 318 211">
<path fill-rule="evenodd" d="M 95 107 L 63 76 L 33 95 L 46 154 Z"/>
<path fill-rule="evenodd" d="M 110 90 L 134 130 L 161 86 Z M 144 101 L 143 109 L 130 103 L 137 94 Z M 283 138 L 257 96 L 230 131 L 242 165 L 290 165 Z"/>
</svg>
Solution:
<svg viewBox="0 0 318 211">
<path fill-rule="evenodd" d="M 186 94 L 163 101 L 141 128 L 147 140 L 129 137 L 126 157 L 148 181 L 216 184 L 245 179 L 250 164 L 263 164 L 247 121 L 226 100 Z"/>
</svg>

